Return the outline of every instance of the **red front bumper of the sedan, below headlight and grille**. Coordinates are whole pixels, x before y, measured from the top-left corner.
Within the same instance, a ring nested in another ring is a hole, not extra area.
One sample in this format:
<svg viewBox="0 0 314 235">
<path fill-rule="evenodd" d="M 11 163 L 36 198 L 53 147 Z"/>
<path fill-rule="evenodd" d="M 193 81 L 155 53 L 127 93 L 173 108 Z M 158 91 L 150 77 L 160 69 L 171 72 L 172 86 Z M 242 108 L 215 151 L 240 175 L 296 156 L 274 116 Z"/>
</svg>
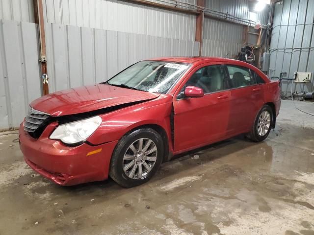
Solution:
<svg viewBox="0 0 314 235">
<path fill-rule="evenodd" d="M 82 143 L 69 147 L 49 139 L 55 125 L 49 125 L 34 139 L 20 125 L 20 148 L 26 164 L 40 175 L 62 186 L 78 185 L 108 178 L 110 159 L 117 141 L 97 146 Z"/>
</svg>

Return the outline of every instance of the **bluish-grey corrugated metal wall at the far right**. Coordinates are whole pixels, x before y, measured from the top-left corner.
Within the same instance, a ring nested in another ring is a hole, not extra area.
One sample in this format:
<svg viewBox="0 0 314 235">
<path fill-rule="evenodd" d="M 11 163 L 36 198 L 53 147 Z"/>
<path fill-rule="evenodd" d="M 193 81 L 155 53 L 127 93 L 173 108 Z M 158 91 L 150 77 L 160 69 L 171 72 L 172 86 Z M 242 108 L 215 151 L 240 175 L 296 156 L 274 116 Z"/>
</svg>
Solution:
<svg viewBox="0 0 314 235">
<path fill-rule="evenodd" d="M 269 76 L 287 72 L 287 77 L 293 78 L 296 71 L 314 73 L 313 23 L 313 0 L 284 0 L 275 5 Z M 312 75 L 312 83 L 294 83 L 293 92 L 313 91 L 313 86 Z M 283 81 L 282 90 L 290 96 L 290 82 Z"/>
</svg>

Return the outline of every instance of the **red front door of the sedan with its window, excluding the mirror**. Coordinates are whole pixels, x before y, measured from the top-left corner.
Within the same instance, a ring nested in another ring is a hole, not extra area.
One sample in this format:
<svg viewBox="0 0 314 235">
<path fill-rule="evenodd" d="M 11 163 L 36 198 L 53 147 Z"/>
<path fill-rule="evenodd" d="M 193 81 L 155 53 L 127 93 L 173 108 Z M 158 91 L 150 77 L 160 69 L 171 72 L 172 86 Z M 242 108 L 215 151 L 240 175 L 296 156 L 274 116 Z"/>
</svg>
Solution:
<svg viewBox="0 0 314 235">
<path fill-rule="evenodd" d="M 204 96 L 184 97 L 186 86 L 202 88 Z M 225 74 L 219 63 L 200 65 L 185 78 L 180 92 L 173 98 L 175 153 L 226 136 L 231 101 L 231 93 L 226 89 Z"/>
</svg>

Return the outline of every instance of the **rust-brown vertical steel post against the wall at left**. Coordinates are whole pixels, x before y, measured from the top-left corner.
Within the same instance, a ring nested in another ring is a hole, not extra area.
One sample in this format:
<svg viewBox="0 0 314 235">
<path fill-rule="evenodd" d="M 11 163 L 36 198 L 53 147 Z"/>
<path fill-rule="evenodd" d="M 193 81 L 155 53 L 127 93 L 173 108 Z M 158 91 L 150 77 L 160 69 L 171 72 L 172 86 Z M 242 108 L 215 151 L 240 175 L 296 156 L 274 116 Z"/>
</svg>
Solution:
<svg viewBox="0 0 314 235">
<path fill-rule="evenodd" d="M 43 95 L 49 94 L 48 76 L 47 76 L 47 57 L 46 57 L 46 40 L 45 40 L 45 24 L 44 24 L 44 11 L 43 1 L 34 1 L 34 15 L 35 23 L 38 24 L 39 31 L 39 44 L 40 44 L 40 67 L 41 77 L 43 78 Z"/>
</svg>

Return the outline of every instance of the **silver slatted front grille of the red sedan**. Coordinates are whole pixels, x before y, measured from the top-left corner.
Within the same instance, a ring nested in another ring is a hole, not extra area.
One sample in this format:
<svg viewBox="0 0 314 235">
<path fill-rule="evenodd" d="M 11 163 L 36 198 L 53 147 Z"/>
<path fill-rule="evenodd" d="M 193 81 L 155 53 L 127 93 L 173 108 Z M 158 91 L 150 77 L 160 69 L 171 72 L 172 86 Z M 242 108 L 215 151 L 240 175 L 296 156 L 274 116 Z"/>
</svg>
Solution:
<svg viewBox="0 0 314 235">
<path fill-rule="evenodd" d="M 24 122 L 24 130 L 27 131 L 32 137 L 38 138 L 44 131 L 47 125 L 49 114 L 40 112 L 29 108 Z"/>
</svg>

